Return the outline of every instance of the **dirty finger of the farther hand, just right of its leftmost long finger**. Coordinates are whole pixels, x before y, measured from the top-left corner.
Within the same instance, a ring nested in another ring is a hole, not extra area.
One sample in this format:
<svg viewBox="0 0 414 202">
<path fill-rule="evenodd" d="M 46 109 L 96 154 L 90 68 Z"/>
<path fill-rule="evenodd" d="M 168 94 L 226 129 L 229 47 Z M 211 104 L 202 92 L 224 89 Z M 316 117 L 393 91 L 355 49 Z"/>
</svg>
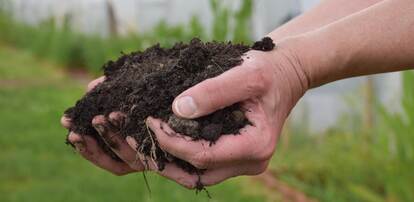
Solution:
<svg viewBox="0 0 414 202">
<path fill-rule="evenodd" d="M 123 118 L 124 116 L 120 112 L 113 112 L 110 114 L 109 119 L 112 120 L 112 123 L 118 123 L 121 121 L 121 117 Z M 113 152 L 117 154 L 119 158 L 121 158 L 136 171 L 144 170 L 143 164 L 140 159 L 137 158 L 137 152 L 128 145 L 126 140 L 119 134 L 119 131 L 115 129 L 115 127 L 118 126 L 109 125 L 106 118 L 102 115 L 96 116 L 93 119 L 92 124 L 101 135 L 105 143 L 112 149 Z"/>
</svg>

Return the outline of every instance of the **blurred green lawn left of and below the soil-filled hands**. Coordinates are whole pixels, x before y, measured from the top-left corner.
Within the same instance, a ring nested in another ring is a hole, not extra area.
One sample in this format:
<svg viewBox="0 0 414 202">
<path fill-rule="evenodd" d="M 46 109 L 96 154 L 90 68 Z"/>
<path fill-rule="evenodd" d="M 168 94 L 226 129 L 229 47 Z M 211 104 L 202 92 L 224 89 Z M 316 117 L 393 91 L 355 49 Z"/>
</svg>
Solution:
<svg viewBox="0 0 414 202">
<path fill-rule="evenodd" d="M 238 178 L 196 195 L 141 173 L 113 176 L 64 144 L 60 116 L 84 92 L 53 64 L 0 45 L 0 201 L 264 201 L 260 186 Z M 256 188 L 259 187 L 259 188 Z"/>
</svg>

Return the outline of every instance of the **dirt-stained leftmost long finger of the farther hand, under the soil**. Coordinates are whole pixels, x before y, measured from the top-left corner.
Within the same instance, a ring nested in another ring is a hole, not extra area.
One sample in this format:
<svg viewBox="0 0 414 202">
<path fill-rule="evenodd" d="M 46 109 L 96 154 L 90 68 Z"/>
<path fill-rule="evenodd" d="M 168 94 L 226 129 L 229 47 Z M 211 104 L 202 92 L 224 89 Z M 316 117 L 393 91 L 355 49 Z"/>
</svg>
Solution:
<svg viewBox="0 0 414 202">
<path fill-rule="evenodd" d="M 125 175 L 134 172 L 126 163 L 115 161 L 107 155 L 92 137 L 80 136 L 72 132 L 68 140 L 75 145 L 76 150 L 82 157 L 102 169 L 115 175 Z"/>
</svg>

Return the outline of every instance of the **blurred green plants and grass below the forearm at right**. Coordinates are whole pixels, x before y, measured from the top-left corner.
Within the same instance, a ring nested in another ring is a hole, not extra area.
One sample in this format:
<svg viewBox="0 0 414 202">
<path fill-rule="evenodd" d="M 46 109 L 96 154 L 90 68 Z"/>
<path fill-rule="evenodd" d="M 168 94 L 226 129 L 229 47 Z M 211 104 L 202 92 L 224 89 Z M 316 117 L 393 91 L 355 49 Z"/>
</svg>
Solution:
<svg viewBox="0 0 414 202">
<path fill-rule="evenodd" d="M 402 113 L 378 106 L 372 139 L 344 122 L 323 135 L 292 134 L 273 168 L 321 201 L 414 201 L 413 100 L 414 72 L 405 72 Z"/>
</svg>

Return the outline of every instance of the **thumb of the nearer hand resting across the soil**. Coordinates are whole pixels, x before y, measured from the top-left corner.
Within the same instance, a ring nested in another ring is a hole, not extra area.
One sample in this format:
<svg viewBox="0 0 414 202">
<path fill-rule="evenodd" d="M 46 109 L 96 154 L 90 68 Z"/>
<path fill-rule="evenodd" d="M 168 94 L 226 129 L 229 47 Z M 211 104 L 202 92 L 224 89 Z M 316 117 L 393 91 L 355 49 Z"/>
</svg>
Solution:
<svg viewBox="0 0 414 202">
<path fill-rule="evenodd" d="M 242 65 L 180 94 L 172 105 L 174 113 L 183 118 L 197 118 L 262 94 L 269 86 L 270 75 L 258 68 L 264 61 L 256 59 L 254 52 L 249 54 Z"/>
</svg>

